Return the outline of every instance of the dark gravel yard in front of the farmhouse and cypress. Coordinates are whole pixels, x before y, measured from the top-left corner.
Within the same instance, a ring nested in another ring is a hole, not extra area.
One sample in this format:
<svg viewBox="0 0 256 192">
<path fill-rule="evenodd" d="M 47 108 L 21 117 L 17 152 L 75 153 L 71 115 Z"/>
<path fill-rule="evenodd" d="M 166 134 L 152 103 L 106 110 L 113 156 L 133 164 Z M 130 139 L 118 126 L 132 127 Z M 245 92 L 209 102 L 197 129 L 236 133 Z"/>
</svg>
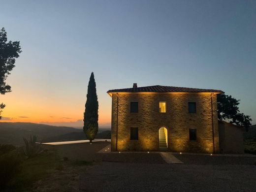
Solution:
<svg viewBox="0 0 256 192">
<path fill-rule="evenodd" d="M 185 164 L 167 164 L 160 153 L 97 153 L 109 142 L 55 146 L 69 160 L 95 160 L 73 183 L 85 192 L 256 192 L 255 157 L 172 154 Z"/>
</svg>

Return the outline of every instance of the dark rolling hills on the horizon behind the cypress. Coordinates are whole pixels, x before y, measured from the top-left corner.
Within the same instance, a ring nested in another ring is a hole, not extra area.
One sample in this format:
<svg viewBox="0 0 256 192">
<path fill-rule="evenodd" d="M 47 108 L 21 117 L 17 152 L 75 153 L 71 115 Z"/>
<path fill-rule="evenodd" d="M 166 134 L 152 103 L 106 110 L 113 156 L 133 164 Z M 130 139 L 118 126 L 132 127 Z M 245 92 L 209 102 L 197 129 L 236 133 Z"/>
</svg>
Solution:
<svg viewBox="0 0 256 192">
<path fill-rule="evenodd" d="M 110 133 L 99 130 L 96 138 L 103 138 Z M 103 133 L 104 132 L 104 133 Z M 57 127 L 34 123 L 0 123 L 0 144 L 23 145 L 23 137 L 36 135 L 37 141 L 55 142 L 86 139 L 82 129 Z"/>
</svg>

